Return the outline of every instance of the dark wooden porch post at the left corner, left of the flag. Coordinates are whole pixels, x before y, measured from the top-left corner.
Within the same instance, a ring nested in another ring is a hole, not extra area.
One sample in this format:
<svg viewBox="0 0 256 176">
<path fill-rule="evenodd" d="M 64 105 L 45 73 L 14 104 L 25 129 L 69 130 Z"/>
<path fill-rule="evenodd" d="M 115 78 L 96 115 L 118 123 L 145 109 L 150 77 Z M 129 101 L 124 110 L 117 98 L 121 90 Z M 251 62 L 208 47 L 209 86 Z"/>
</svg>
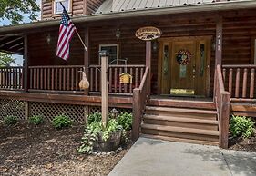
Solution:
<svg viewBox="0 0 256 176">
<path fill-rule="evenodd" d="M 24 35 L 24 54 L 23 54 L 23 89 L 28 91 L 28 49 L 27 49 L 27 34 Z"/>
</svg>

